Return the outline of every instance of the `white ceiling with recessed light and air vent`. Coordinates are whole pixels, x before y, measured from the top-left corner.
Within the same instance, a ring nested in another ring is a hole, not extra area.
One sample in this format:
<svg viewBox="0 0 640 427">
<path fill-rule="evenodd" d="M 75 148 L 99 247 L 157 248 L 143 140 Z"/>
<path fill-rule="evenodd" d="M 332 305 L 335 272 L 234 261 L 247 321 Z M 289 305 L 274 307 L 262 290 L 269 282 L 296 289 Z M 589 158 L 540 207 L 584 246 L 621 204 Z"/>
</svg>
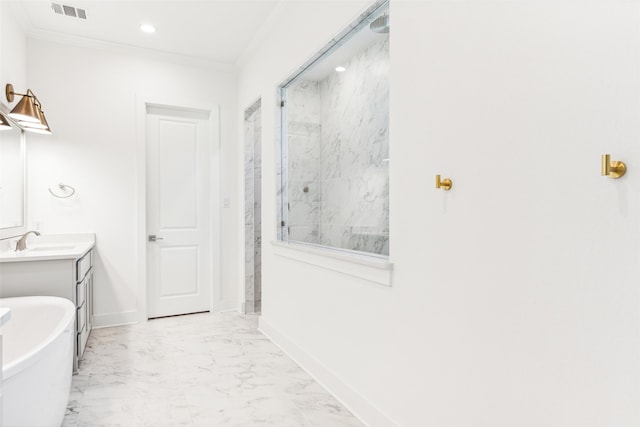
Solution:
<svg viewBox="0 0 640 427">
<path fill-rule="evenodd" d="M 234 65 L 249 48 L 278 0 L 55 0 L 87 12 L 78 19 L 53 12 L 50 1 L 7 1 L 27 34 L 150 49 Z M 156 27 L 153 34 L 140 24 Z"/>
</svg>

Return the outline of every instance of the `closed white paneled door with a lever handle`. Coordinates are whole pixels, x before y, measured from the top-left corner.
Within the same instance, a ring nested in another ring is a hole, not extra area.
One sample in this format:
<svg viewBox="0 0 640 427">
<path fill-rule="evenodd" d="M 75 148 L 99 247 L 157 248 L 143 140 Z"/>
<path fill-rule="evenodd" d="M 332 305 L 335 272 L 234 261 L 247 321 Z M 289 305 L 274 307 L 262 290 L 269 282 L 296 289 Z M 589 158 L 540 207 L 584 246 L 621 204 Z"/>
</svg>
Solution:
<svg viewBox="0 0 640 427">
<path fill-rule="evenodd" d="M 209 112 L 147 106 L 147 317 L 209 311 Z"/>
</svg>

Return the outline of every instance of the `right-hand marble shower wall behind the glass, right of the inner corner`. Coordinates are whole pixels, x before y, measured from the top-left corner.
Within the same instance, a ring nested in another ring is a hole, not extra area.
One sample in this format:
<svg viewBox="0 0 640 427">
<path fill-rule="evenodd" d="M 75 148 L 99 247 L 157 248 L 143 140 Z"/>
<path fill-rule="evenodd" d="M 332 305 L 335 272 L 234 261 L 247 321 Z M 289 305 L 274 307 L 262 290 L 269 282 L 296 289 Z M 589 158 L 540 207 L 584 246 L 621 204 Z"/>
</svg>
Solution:
<svg viewBox="0 0 640 427">
<path fill-rule="evenodd" d="M 389 253 L 388 36 L 320 82 L 320 243 Z"/>
</svg>

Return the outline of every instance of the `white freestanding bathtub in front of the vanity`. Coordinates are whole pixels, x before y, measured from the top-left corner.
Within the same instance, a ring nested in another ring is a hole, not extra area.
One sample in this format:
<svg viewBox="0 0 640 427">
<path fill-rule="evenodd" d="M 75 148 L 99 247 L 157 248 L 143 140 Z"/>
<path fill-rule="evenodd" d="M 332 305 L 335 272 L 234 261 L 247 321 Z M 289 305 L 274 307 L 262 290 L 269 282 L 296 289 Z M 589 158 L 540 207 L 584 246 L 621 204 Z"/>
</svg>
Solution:
<svg viewBox="0 0 640 427">
<path fill-rule="evenodd" d="M 0 298 L 2 427 L 60 426 L 69 400 L 75 307 L 58 297 Z"/>
</svg>

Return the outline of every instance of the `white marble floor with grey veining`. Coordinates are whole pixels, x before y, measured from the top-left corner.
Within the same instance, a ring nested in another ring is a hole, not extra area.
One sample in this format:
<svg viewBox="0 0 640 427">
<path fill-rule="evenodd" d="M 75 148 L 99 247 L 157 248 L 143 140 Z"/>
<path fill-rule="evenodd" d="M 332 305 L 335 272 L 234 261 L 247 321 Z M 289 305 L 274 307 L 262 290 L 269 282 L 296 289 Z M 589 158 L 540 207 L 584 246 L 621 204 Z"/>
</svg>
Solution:
<svg viewBox="0 0 640 427">
<path fill-rule="evenodd" d="M 204 313 L 94 329 L 63 427 L 362 426 L 257 319 Z"/>
</svg>

